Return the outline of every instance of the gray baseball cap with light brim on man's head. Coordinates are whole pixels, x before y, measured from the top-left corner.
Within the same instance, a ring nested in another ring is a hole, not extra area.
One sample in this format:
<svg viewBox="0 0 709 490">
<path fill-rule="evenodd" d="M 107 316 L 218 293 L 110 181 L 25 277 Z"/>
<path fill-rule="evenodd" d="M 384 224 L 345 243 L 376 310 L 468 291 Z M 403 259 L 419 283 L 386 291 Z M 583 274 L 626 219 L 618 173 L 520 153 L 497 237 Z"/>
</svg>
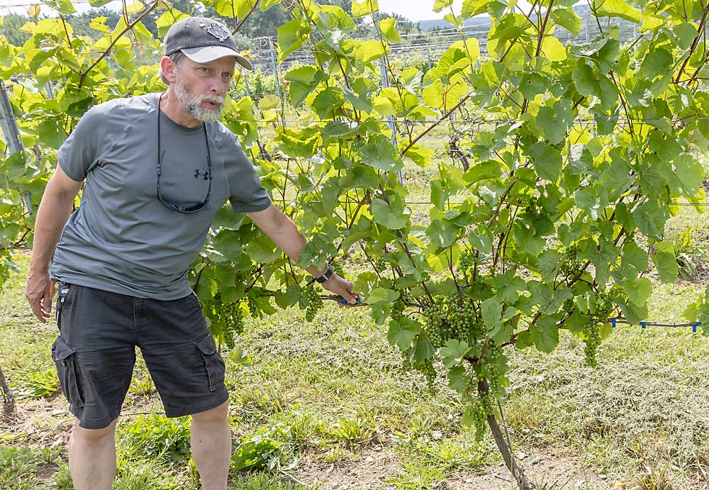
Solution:
<svg viewBox="0 0 709 490">
<path fill-rule="evenodd" d="M 178 51 L 197 63 L 232 56 L 242 67 L 253 69 L 251 62 L 236 50 L 229 30 L 211 18 L 187 17 L 172 24 L 165 35 L 165 56 Z"/>
</svg>

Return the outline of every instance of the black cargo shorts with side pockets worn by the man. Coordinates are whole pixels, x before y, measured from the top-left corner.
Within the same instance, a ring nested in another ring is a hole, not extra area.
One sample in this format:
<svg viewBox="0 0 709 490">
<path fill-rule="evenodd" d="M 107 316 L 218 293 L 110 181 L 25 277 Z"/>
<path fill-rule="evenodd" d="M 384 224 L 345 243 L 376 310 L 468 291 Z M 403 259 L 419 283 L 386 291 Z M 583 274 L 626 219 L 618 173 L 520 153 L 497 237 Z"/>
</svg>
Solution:
<svg viewBox="0 0 709 490">
<path fill-rule="evenodd" d="M 194 294 L 160 301 L 62 282 L 57 291 L 60 335 L 52 359 L 81 427 L 105 428 L 121 413 L 136 346 L 168 417 L 228 399 L 224 361 Z"/>
</svg>

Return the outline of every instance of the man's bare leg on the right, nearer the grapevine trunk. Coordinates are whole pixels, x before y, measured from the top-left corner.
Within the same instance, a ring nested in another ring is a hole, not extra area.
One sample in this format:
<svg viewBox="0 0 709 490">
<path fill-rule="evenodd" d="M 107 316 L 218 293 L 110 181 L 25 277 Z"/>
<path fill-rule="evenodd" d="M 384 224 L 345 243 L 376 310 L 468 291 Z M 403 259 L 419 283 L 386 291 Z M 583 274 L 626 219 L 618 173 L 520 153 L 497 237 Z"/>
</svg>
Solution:
<svg viewBox="0 0 709 490">
<path fill-rule="evenodd" d="M 199 469 L 202 490 L 226 490 L 231 462 L 228 408 L 229 402 L 225 401 L 192 416 L 192 457 Z"/>
</svg>

